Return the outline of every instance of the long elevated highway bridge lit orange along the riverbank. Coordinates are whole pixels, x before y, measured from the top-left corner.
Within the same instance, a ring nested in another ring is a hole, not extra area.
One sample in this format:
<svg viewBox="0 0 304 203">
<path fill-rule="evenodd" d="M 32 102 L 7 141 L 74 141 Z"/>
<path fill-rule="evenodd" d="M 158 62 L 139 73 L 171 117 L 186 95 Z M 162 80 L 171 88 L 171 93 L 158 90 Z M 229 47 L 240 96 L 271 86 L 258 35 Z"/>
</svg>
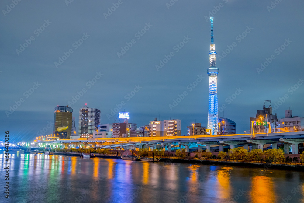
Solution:
<svg viewBox="0 0 304 203">
<path fill-rule="evenodd" d="M 197 135 L 197 136 L 174 136 L 174 137 L 134 137 L 134 138 L 89 138 L 89 139 L 61 139 L 61 140 L 35 140 L 35 143 L 58 147 L 60 145 L 76 147 L 84 146 L 86 149 L 140 149 L 140 148 L 163 148 L 167 151 L 185 148 L 186 152 L 206 149 L 223 151 L 224 148 L 233 149 L 264 149 L 264 147 L 278 148 L 278 144 L 284 145 L 285 154 L 298 154 L 298 146 L 304 143 L 304 131 L 278 132 L 261 134 L 235 134 L 235 135 Z M 90 147 L 89 145 L 92 145 Z"/>
</svg>

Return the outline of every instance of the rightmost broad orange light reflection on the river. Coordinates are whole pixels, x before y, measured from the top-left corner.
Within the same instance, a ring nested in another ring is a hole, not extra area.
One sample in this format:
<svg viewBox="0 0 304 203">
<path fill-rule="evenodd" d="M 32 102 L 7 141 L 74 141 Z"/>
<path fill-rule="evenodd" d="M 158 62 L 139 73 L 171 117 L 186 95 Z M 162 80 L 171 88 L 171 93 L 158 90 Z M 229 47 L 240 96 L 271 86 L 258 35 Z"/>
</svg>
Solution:
<svg viewBox="0 0 304 203">
<path fill-rule="evenodd" d="M 276 202 L 272 179 L 265 176 L 254 176 L 252 178 L 251 201 L 253 203 L 260 203 L 265 200 L 269 203 Z"/>
</svg>

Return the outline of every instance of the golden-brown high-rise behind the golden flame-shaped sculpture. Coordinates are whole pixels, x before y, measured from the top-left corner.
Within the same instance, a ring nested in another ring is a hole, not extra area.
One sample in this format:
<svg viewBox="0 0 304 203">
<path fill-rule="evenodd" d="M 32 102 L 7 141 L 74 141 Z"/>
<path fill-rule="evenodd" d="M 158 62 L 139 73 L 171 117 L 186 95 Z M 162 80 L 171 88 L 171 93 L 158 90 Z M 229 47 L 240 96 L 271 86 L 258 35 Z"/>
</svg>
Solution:
<svg viewBox="0 0 304 203">
<path fill-rule="evenodd" d="M 73 109 L 69 106 L 57 106 L 54 108 L 53 133 L 55 137 L 59 137 L 60 139 L 70 138 L 72 135 L 72 112 Z"/>
</svg>

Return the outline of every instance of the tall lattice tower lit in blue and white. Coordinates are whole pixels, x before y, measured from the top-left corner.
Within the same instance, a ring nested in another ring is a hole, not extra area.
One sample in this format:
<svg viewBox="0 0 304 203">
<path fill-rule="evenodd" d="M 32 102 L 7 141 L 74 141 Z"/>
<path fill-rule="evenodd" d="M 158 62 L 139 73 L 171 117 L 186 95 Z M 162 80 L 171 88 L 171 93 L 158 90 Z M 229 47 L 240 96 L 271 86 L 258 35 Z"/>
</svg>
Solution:
<svg viewBox="0 0 304 203">
<path fill-rule="evenodd" d="M 209 51 L 210 67 L 207 69 L 209 76 L 209 109 L 208 109 L 208 129 L 211 129 L 210 135 L 217 135 L 218 131 L 218 106 L 217 106 L 217 75 L 219 69 L 216 68 L 216 51 L 213 44 L 213 17 L 211 21 L 211 44 Z"/>
</svg>

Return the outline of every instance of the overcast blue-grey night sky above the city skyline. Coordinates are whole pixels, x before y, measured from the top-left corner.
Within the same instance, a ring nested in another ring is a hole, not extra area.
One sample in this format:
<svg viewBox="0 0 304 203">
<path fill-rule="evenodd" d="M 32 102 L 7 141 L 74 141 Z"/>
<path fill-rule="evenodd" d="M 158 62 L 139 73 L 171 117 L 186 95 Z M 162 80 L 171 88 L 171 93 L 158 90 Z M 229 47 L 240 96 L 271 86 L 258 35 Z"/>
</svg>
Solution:
<svg viewBox="0 0 304 203">
<path fill-rule="evenodd" d="M 33 140 L 57 105 L 74 109 L 78 132 L 85 103 L 101 123 L 113 123 L 117 107 L 137 127 L 153 117 L 181 119 L 182 135 L 193 122 L 207 126 L 210 13 L 219 116 L 237 133 L 264 100 L 279 118 L 291 106 L 304 116 L 301 0 L 15 1 L 0 3 L 0 140 L 4 131 L 11 142 Z"/>
</svg>

